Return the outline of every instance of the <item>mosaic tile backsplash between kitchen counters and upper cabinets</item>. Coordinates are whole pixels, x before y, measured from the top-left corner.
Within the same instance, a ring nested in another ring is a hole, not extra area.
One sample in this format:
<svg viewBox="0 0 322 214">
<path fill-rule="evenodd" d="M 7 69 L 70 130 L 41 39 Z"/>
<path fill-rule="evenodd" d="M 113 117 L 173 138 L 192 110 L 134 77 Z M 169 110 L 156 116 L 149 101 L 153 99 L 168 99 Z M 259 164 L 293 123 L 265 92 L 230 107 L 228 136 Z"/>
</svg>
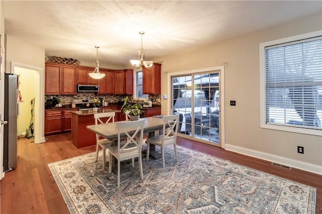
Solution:
<svg viewBox="0 0 322 214">
<path fill-rule="evenodd" d="M 107 94 L 107 95 L 95 95 L 94 93 L 77 93 L 76 95 L 48 95 L 45 94 L 45 102 L 47 99 L 50 99 L 51 96 L 56 96 L 60 98 L 59 104 L 71 104 L 72 100 L 74 99 L 93 99 L 96 98 L 103 98 L 107 102 L 118 102 L 123 101 L 126 96 L 129 97 L 131 101 L 133 101 L 133 95 L 123 95 L 123 94 Z M 152 99 L 152 104 L 161 104 L 161 95 L 159 94 L 152 94 L 148 96 L 148 99 Z"/>
</svg>

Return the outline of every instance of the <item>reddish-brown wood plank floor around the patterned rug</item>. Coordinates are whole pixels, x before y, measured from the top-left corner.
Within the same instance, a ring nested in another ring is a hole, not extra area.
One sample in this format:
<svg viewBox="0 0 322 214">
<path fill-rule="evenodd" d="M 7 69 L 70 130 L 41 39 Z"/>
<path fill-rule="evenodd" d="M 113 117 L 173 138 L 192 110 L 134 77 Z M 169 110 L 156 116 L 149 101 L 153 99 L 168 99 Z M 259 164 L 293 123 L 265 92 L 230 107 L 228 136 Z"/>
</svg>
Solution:
<svg viewBox="0 0 322 214">
<path fill-rule="evenodd" d="M 272 166 L 264 160 L 184 138 L 178 138 L 177 144 L 316 187 L 316 213 L 322 213 L 320 175 L 294 168 L 288 170 Z M 47 137 L 46 143 L 43 144 L 34 144 L 26 138 L 19 139 L 17 168 L 7 172 L 1 180 L 1 213 L 69 213 L 47 164 L 94 151 L 95 146 L 76 149 L 71 143 L 70 134 Z"/>
</svg>

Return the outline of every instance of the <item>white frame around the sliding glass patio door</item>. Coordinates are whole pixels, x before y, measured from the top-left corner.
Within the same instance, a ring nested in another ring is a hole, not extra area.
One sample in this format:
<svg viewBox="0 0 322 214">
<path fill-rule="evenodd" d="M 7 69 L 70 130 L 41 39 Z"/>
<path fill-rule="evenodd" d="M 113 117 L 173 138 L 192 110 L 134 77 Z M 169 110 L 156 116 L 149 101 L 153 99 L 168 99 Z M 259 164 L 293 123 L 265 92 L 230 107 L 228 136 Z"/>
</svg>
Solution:
<svg viewBox="0 0 322 214">
<path fill-rule="evenodd" d="M 216 67 L 209 67 L 209 68 L 201 68 L 201 69 L 196 69 L 196 70 L 189 70 L 189 71 L 180 71 L 180 72 L 173 72 L 173 73 L 168 73 L 168 96 L 165 97 L 169 97 L 168 99 L 168 108 L 167 108 L 167 114 L 170 115 L 172 114 L 172 99 L 173 99 L 173 93 L 172 93 L 172 77 L 173 76 L 180 76 L 180 75 L 190 75 L 190 74 L 194 74 L 194 73 L 200 73 L 200 72 L 211 72 L 211 71 L 219 71 L 219 130 L 220 130 L 220 134 L 219 134 L 219 138 L 220 138 L 220 147 L 221 148 L 225 148 L 225 98 L 224 98 L 224 94 L 225 94 L 225 87 L 224 87 L 224 70 L 225 67 L 222 66 L 216 66 Z M 166 94 L 166 95 L 167 95 Z M 164 98 L 165 99 L 165 98 Z M 198 139 L 194 140 L 198 141 Z M 202 143 L 205 143 L 204 141 L 202 141 Z M 214 145 L 214 144 L 210 144 L 210 145 Z"/>
</svg>

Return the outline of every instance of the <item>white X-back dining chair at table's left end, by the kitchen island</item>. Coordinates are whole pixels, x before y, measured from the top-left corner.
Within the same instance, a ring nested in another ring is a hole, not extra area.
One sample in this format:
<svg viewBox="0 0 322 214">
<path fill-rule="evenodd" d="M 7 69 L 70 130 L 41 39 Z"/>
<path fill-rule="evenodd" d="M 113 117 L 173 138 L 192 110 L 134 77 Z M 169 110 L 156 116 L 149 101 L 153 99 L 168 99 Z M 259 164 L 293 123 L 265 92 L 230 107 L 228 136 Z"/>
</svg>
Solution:
<svg viewBox="0 0 322 214">
<path fill-rule="evenodd" d="M 101 120 L 103 118 L 105 118 L 106 120 L 105 123 L 109 123 L 109 122 L 114 123 L 115 112 L 94 114 L 95 125 L 104 124 L 104 122 Z M 104 170 L 105 164 L 106 164 L 106 149 L 112 146 L 112 141 L 107 140 L 106 138 L 102 138 L 101 136 L 96 134 L 96 161 L 98 160 L 98 156 L 99 156 L 99 146 L 102 147 L 103 149 L 103 170 Z"/>
</svg>

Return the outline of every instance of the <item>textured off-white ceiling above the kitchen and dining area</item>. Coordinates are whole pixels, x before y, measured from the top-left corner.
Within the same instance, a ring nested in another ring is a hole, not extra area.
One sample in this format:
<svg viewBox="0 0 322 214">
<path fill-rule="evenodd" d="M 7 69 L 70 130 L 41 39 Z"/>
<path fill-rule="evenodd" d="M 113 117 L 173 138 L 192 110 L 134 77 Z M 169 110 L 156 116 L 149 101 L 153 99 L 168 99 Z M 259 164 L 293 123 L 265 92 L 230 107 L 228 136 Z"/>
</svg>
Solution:
<svg viewBox="0 0 322 214">
<path fill-rule="evenodd" d="M 322 1 L 2 1 L 5 33 L 46 56 L 129 68 L 145 59 L 321 14 Z"/>
</svg>

